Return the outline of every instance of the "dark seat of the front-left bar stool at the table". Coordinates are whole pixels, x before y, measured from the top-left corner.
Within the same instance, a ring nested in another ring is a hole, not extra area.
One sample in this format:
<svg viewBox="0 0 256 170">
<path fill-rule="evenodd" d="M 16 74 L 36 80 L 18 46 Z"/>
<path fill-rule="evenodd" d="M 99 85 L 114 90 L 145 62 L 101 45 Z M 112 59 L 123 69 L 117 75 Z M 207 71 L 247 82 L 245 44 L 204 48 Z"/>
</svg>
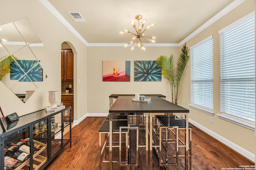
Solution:
<svg viewBox="0 0 256 170">
<path fill-rule="evenodd" d="M 119 132 L 119 127 L 127 127 L 128 121 L 126 120 L 116 120 L 112 121 L 112 131 L 113 132 Z M 105 120 L 103 124 L 101 125 L 99 132 L 109 132 L 109 120 Z"/>
</svg>

